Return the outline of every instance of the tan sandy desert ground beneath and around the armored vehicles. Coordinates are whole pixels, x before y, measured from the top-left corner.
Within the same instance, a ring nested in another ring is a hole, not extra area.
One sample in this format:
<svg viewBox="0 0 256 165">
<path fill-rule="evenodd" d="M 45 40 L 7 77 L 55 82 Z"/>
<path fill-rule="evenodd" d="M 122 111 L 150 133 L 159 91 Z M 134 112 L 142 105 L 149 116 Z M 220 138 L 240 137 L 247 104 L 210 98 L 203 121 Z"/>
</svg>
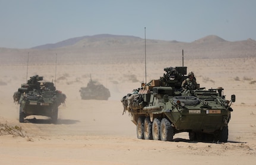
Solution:
<svg viewBox="0 0 256 165">
<path fill-rule="evenodd" d="M 181 66 L 178 61 L 147 64 L 147 81 L 163 75 L 163 68 Z M 0 164 L 255 164 L 256 161 L 256 59 L 188 60 L 201 87 L 222 86 L 227 99 L 236 95 L 229 122 L 228 143 L 188 140 L 138 140 L 129 115 L 122 115 L 122 96 L 138 88 L 144 78 L 140 63 L 69 64 L 56 72 L 56 88 L 67 95 L 59 106 L 57 124 L 45 117 L 18 122 L 18 105 L 12 95 L 26 82 L 24 64 L 0 66 L 0 122 L 23 129 L 26 137 L 0 135 Z M 90 79 L 109 88 L 108 101 L 81 100 L 79 89 Z M 29 66 L 28 76 L 55 80 L 55 66 Z"/>
</svg>

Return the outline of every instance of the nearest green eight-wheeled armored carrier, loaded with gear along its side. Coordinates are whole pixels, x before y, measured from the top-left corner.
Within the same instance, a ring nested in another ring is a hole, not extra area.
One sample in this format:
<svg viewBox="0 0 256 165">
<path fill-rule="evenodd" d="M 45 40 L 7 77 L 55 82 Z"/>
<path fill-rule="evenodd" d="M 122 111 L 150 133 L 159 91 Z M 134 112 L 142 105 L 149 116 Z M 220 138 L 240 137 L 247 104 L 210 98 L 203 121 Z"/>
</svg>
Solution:
<svg viewBox="0 0 256 165">
<path fill-rule="evenodd" d="M 137 137 L 146 140 L 172 141 L 173 135 L 188 132 L 192 141 L 226 142 L 230 101 L 223 88 L 182 89 L 187 67 L 167 67 L 157 80 L 141 85 L 121 99 L 124 112 L 137 125 Z M 123 114 L 124 114 L 123 112 Z"/>
</svg>

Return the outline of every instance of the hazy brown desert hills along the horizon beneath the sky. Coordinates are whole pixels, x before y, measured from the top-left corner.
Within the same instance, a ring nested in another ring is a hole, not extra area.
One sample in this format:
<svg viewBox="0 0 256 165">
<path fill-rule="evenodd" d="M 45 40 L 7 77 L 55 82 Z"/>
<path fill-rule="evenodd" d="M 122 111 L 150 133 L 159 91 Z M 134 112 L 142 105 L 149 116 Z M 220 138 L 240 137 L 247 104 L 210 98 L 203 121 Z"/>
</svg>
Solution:
<svg viewBox="0 0 256 165">
<path fill-rule="evenodd" d="M 1 64 L 8 63 L 91 63 L 103 60 L 143 62 L 145 54 L 144 38 L 127 35 L 99 34 L 70 38 L 55 44 L 45 44 L 29 49 L 0 48 Z M 185 59 L 226 59 L 237 57 L 255 57 L 256 41 L 226 41 L 216 35 L 195 40 L 191 43 L 179 41 L 146 40 L 147 59 L 181 59 L 182 49 Z"/>
</svg>

